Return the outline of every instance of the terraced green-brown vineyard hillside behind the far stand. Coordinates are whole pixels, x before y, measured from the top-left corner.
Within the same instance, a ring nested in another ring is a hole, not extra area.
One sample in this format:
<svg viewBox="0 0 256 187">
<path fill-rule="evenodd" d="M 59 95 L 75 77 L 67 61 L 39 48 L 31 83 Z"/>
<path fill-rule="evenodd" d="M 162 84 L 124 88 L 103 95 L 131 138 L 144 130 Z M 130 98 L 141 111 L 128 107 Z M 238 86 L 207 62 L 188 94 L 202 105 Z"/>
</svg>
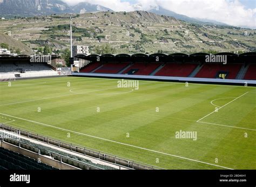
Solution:
<svg viewBox="0 0 256 187">
<path fill-rule="evenodd" d="M 6 19 L 0 23 L 0 33 L 9 33 L 31 48 L 45 44 L 53 49 L 69 47 L 69 15 Z M 73 18 L 73 26 L 74 45 L 88 45 L 91 53 L 105 43 L 114 47 L 116 53 L 130 54 L 251 52 L 256 46 L 255 30 L 191 25 L 145 11 L 85 13 Z"/>
</svg>

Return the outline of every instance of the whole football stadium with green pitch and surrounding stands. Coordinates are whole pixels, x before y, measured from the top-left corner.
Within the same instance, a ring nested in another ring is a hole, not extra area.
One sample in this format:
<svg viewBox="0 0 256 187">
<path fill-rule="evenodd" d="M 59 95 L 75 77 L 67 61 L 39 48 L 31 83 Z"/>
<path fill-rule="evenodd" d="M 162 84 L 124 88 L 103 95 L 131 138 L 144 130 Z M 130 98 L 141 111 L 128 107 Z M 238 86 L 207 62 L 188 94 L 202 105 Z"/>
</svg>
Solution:
<svg viewBox="0 0 256 187">
<path fill-rule="evenodd" d="M 0 167 L 255 169 L 255 55 L 0 55 Z"/>
</svg>

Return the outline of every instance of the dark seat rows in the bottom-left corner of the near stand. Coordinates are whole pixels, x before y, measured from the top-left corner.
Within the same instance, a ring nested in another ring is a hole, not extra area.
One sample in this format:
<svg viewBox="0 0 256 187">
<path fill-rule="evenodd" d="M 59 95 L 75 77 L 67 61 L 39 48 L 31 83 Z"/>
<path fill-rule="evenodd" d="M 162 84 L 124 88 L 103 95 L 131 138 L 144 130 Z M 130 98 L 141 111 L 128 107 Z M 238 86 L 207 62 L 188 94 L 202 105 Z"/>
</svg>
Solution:
<svg viewBox="0 0 256 187">
<path fill-rule="evenodd" d="M 0 147 L 0 169 L 10 170 L 57 170 L 44 163 L 38 163 L 35 159 L 21 155 L 11 150 Z"/>
</svg>

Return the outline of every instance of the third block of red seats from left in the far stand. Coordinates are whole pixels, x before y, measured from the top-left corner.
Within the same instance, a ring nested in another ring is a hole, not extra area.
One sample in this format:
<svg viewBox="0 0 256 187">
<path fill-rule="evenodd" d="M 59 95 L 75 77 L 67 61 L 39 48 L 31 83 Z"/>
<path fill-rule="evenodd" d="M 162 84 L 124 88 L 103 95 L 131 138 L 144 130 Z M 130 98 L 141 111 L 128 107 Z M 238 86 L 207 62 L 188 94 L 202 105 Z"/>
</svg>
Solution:
<svg viewBox="0 0 256 187">
<path fill-rule="evenodd" d="M 150 75 L 159 66 L 161 66 L 161 63 L 139 63 L 139 62 L 137 62 L 137 63 L 134 63 L 128 69 L 126 69 L 123 72 L 123 74 Z M 134 71 L 131 71 L 131 70 L 134 70 Z"/>
</svg>

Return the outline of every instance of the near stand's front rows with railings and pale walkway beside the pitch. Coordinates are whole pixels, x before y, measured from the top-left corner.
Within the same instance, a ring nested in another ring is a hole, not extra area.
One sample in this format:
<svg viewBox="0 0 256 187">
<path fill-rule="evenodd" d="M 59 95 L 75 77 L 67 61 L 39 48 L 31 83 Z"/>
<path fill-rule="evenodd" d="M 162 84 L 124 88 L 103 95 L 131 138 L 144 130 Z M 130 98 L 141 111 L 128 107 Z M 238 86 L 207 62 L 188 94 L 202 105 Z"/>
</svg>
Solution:
<svg viewBox="0 0 256 187">
<path fill-rule="evenodd" d="M 17 132 L 22 135 L 22 138 L 20 136 L 16 136 Z M 0 140 L 0 147 L 2 146 L 8 149 L 10 149 L 10 147 L 14 147 L 14 149 L 11 150 L 15 150 L 18 153 L 29 152 L 29 156 L 34 159 L 37 159 L 39 155 L 41 157 L 43 156 L 46 158 L 44 163 L 51 164 L 51 166 L 55 166 L 60 169 L 67 169 L 67 167 L 68 169 L 70 167 L 76 167 L 86 170 L 163 169 L 134 160 L 125 159 L 117 155 L 100 152 L 99 150 L 53 139 L 49 136 L 24 131 L 4 124 L 0 124 Z M 52 161 L 47 161 L 47 159 Z M 65 166 L 59 166 L 59 163 L 52 164 L 52 162 L 60 162 L 68 165 L 64 164 Z"/>
</svg>

